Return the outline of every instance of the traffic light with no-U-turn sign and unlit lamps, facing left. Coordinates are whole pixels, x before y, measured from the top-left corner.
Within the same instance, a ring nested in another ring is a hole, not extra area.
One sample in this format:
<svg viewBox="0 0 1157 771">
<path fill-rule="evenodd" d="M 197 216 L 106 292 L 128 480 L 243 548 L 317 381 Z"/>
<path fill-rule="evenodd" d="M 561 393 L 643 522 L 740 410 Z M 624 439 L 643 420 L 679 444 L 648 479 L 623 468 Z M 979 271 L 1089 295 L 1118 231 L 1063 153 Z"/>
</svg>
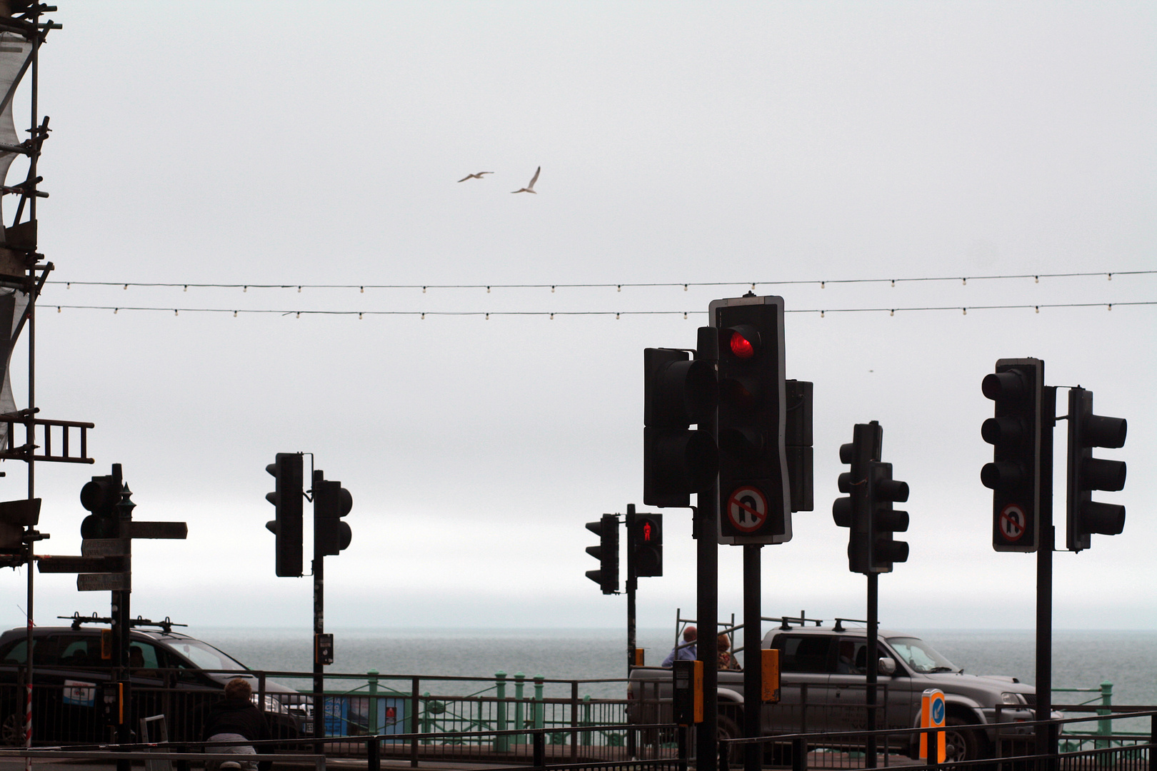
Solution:
<svg viewBox="0 0 1157 771">
<path fill-rule="evenodd" d="M 993 445 L 993 462 L 980 469 L 993 491 L 993 548 L 1036 551 L 1040 512 L 1041 391 L 1045 363 L 1039 358 L 1002 358 L 985 376 L 981 391 L 995 402 L 993 417 L 980 427 Z"/>
</svg>

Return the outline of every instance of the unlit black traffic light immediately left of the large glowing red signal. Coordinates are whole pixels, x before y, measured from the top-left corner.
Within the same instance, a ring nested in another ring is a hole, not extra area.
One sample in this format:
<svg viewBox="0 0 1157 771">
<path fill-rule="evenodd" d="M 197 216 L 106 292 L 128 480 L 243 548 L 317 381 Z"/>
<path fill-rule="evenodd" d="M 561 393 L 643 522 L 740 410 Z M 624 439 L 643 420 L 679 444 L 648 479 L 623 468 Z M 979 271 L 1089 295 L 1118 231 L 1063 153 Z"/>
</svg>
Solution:
<svg viewBox="0 0 1157 771">
<path fill-rule="evenodd" d="M 712 489 L 715 439 L 703 430 L 718 398 L 715 369 L 685 350 L 643 349 L 643 503 L 690 506 Z M 691 425 L 698 425 L 695 430 Z"/>
</svg>

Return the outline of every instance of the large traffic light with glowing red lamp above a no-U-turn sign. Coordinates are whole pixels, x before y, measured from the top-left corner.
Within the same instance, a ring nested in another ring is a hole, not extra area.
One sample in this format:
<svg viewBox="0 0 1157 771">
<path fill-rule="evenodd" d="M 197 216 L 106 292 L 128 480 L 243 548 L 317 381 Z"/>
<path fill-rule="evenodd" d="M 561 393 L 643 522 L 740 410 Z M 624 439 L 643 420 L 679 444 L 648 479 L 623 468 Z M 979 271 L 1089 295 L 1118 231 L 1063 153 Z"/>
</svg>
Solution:
<svg viewBox="0 0 1157 771">
<path fill-rule="evenodd" d="M 783 298 L 716 299 L 709 312 L 718 334 L 718 541 L 790 541 Z"/>
</svg>

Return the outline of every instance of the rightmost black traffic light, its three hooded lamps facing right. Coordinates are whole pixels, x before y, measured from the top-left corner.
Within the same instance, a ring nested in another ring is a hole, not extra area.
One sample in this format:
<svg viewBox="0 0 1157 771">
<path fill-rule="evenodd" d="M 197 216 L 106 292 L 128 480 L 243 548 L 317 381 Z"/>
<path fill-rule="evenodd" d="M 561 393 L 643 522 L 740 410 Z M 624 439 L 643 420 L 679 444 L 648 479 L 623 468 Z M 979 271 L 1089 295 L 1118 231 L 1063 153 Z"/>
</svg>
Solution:
<svg viewBox="0 0 1157 771">
<path fill-rule="evenodd" d="M 1068 526 L 1070 551 L 1092 546 L 1092 533 L 1118 535 L 1125 529 L 1125 506 L 1098 503 L 1092 490 L 1125 489 L 1125 461 L 1092 457 L 1093 447 L 1123 447 L 1123 417 L 1092 414 L 1092 391 L 1069 388 Z"/>
</svg>

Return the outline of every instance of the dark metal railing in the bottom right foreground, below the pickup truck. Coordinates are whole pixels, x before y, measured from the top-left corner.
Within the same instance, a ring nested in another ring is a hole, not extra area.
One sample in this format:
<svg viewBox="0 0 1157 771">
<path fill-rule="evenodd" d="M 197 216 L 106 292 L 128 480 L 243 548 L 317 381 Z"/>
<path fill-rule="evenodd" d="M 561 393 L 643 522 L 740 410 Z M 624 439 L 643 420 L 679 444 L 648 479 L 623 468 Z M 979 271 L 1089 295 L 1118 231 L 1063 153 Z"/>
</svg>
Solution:
<svg viewBox="0 0 1157 771">
<path fill-rule="evenodd" d="M 928 759 L 916 763 L 944 771 L 964 771 L 966 769 L 985 769 L 986 771 L 1157 771 L 1157 711 L 1145 707 L 1141 711 L 1118 712 L 1110 716 L 1112 720 L 1145 719 L 1150 725 L 1147 734 L 1123 732 L 1110 734 L 1079 733 L 1081 724 L 1104 720 L 1096 718 L 1064 718 L 1059 720 L 996 722 L 987 726 L 993 729 L 995 740 L 985 748 L 978 759 L 955 761 L 951 750 L 943 763 L 937 762 L 935 751 L 937 734 L 949 733 L 950 728 L 906 728 L 876 732 L 840 732 L 780 734 L 757 739 L 728 739 L 720 741 L 720 769 L 742 768 L 744 754 L 749 747 L 757 747 L 765 765 L 790 768 L 794 771 L 805 769 L 865 769 L 913 765 L 911 748 L 919 746 L 921 734 L 927 736 Z M 1037 747 L 1033 732 L 1037 726 L 1046 726 L 1051 732 L 1052 744 L 1045 751 Z M 1060 743 L 1059 737 L 1079 743 Z M 869 763 L 867 748 L 869 737 L 875 739 L 877 753 L 875 762 Z M 1088 742 L 1088 743 L 1085 743 Z"/>
</svg>

